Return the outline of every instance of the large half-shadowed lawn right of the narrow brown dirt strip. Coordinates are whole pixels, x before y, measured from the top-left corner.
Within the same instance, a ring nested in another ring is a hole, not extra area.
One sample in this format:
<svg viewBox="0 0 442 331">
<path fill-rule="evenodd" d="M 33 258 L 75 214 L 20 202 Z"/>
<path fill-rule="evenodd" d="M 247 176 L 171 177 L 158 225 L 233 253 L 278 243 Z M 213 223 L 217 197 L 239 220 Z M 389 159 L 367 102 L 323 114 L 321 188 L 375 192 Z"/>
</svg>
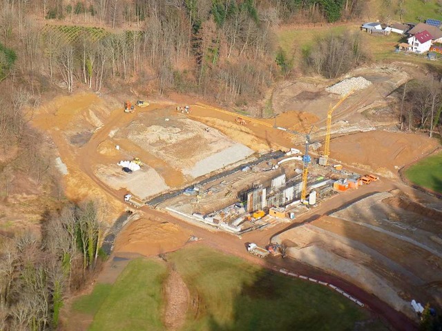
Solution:
<svg viewBox="0 0 442 331">
<path fill-rule="evenodd" d="M 354 330 L 368 317 L 329 288 L 207 248 L 174 252 L 169 261 L 193 297 L 183 330 Z"/>
</svg>

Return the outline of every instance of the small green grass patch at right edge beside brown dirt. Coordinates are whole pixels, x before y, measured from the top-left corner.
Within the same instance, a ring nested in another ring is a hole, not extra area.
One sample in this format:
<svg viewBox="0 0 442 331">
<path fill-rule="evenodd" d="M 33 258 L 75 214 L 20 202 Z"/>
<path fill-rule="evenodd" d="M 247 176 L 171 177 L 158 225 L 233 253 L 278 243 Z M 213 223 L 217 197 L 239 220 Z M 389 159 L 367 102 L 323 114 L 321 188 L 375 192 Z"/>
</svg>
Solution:
<svg viewBox="0 0 442 331">
<path fill-rule="evenodd" d="M 405 171 L 405 176 L 416 185 L 442 193 L 442 153 L 412 165 Z"/>
</svg>

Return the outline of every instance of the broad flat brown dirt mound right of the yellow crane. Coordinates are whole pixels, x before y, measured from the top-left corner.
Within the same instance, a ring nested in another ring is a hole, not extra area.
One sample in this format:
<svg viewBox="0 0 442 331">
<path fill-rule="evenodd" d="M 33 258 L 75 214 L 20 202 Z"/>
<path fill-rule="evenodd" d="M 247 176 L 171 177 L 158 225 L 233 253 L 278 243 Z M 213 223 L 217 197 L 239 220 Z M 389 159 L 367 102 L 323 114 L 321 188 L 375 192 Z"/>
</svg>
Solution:
<svg viewBox="0 0 442 331">
<path fill-rule="evenodd" d="M 436 146 L 436 139 L 423 134 L 378 130 L 338 137 L 330 144 L 332 159 L 390 178 Z"/>
</svg>

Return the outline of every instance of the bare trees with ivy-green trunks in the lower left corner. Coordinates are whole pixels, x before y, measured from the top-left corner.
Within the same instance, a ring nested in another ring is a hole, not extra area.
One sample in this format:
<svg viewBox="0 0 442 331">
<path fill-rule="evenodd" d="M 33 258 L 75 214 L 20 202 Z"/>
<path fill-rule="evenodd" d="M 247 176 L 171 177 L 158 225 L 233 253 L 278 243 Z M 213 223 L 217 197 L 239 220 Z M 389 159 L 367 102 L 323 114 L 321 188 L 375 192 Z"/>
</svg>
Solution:
<svg viewBox="0 0 442 331">
<path fill-rule="evenodd" d="M 97 265 L 102 232 L 97 204 L 66 205 L 0 250 L 0 330 L 57 330 L 64 300 Z"/>
</svg>

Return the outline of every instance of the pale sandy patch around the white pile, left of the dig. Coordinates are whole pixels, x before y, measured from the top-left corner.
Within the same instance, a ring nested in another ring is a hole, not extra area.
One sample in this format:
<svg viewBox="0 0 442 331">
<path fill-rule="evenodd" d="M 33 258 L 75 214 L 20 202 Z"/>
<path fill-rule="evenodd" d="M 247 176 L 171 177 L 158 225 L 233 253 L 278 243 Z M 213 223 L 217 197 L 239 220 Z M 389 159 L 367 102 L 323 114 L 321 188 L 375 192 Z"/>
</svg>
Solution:
<svg viewBox="0 0 442 331">
<path fill-rule="evenodd" d="M 146 199 L 169 188 L 155 169 L 148 166 L 126 174 L 119 165 L 99 165 L 95 175 L 111 188 L 126 188 L 140 199 Z"/>
</svg>

